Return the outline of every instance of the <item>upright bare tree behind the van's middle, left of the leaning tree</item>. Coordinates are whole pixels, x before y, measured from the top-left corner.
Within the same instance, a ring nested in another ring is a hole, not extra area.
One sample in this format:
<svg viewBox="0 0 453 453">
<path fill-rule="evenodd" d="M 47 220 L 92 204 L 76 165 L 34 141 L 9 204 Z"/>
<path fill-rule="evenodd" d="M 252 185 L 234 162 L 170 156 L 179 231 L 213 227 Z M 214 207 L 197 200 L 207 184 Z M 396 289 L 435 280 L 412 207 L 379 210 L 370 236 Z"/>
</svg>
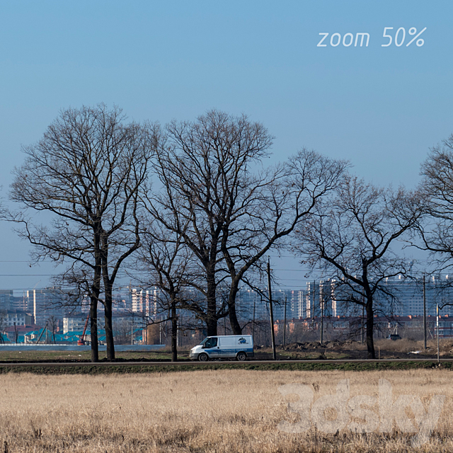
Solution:
<svg viewBox="0 0 453 453">
<path fill-rule="evenodd" d="M 224 219 L 231 202 L 225 174 L 257 164 L 268 154 L 272 137 L 263 125 L 245 116 L 236 118 L 215 110 L 197 122 L 172 122 L 167 140 L 156 155 L 155 171 L 163 190 L 148 198 L 156 221 L 178 235 L 202 268 L 203 280 L 195 287 L 205 296 L 198 316 L 207 335 L 217 334 L 218 319 L 227 315 L 226 301 L 217 306 L 219 285 L 226 278 L 221 251 Z M 236 188 L 238 186 L 236 185 Z M 234 188 L 231 188 L 234 190 Z M 188 225 L 183 231 L 182 226 Z"/>
</svg>

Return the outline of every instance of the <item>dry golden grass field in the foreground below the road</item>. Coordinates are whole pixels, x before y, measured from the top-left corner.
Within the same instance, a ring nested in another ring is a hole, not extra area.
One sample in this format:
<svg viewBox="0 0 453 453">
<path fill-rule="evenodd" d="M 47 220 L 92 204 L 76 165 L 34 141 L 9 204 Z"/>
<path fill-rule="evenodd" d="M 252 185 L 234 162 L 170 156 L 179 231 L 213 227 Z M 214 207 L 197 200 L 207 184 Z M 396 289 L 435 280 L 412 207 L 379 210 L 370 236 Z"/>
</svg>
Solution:
<svg viewBox="0 0 453 453">
<path fill-rule="evenodd" d="M 327 435 L 315 428 L 302 434 L 277 429 L 282 420 L 297 420 L 287 413 L 282 384 L 308 384 L 316 399 L 350 379 L 350 396 L 377 396 L 379 378 L 391 382 L 394 398 L 417 395 L 425 408 L 433 394 L 447 396 L 428 443 L 413 449 L 413 434 L 397 430 Z M 0 452 L 453 452 L 452 374 L 443 369 L 10 373 L 0 380 Z"/>
</svg>

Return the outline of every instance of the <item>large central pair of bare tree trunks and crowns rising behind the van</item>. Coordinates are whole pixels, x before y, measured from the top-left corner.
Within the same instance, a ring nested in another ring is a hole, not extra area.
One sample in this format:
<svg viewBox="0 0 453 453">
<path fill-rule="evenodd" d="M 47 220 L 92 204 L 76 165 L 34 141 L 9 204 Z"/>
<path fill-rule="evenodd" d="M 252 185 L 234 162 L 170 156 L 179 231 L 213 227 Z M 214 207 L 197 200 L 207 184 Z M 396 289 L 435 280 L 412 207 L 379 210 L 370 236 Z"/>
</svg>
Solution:
<svg viewBox="0 0 453 453">
<path fill-rule="evenodd" d="M 155 163 L 163 190 L 148 198 L 149 210 L 200 265 L 203 282 L 194 287 L 206 303 L 194 309 L 207 335 L 224 316 L 240 334 L 239 283 L 335 187 L 346 164 L 301 151 L 285 166 L 263 168 L 273 137 L 245 115 L 212 110 L 166 131 Z"/>
</svg>

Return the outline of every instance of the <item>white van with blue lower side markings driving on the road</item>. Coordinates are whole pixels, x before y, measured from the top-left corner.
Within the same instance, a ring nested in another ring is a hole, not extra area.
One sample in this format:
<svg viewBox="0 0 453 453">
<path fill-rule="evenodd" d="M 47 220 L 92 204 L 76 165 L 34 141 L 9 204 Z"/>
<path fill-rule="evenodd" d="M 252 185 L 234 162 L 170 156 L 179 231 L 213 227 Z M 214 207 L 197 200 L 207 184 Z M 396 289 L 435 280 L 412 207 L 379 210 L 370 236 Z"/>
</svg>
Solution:
<svg viewBox="0 0 453 453">
<path fill-rule="evenodd" d="M 253 357 L 253 355 L 253 337 L 251 335 L 207 337 L 190 350 L 190 358 L 200 360 L 200 362 L 227 358 L 246 360 L 247 357 Z"/>
</svg>

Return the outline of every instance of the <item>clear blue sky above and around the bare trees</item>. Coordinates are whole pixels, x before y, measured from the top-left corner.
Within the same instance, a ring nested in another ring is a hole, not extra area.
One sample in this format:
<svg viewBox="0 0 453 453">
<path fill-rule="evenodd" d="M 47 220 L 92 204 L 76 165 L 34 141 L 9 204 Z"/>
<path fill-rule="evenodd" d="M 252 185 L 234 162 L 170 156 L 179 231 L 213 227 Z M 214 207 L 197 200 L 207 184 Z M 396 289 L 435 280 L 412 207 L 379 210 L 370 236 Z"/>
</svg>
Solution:
<svg viewBox="0 0 453 453">
<path fill-rule="evenodd" d="M 452 17 L 450 0 L 0 1 L 3 195 L 21 144 L 60 109 L 99 102 L 163 123 L 246 113 L 275 135 L 275 159 L 309 147 L 374 183 L 413 187 L 428 148 L 453 132 Z M 407 47 L 425 27 L 424 45 Z M 360 32 L 368 47 L 343 45 Z M 30 269 L 28 245 L 8 224 L 0 233 L 0 288 L 44 286 L 52 268 Z"/>
</svg>

